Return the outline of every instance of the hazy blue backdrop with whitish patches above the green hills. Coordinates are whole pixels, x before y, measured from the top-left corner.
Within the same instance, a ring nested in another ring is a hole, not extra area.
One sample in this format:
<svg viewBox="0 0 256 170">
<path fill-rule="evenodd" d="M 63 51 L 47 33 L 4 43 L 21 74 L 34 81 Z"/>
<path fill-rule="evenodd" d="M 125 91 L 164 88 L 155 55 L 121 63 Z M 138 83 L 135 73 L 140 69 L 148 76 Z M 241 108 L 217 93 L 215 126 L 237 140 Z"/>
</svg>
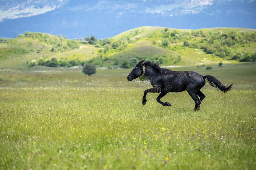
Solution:
<svg viewBox="0 0 256 170">
<path fill-rule="evenodd" d="M 140 26 L 256 29 L 256 0 L 0 0 L 0 37 L 111 38 Z"/>
</svg>

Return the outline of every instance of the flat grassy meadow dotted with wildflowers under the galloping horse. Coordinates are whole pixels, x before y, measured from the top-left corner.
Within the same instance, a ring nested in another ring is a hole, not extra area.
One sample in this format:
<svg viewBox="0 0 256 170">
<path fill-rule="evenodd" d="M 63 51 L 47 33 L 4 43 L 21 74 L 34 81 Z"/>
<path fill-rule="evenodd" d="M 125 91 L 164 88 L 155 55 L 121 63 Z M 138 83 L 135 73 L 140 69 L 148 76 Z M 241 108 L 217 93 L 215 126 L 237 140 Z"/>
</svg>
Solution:
<svg viewBox="0 0 256 170">
<path fill-rule="evenodd" d="M 254 169 L 256 63 L 178 67 L 234 83 L 208 83 L 200 112 L 188 93 L 156 102 L 130 69 L 0 69 L 0 169 Z"/>
</svg>

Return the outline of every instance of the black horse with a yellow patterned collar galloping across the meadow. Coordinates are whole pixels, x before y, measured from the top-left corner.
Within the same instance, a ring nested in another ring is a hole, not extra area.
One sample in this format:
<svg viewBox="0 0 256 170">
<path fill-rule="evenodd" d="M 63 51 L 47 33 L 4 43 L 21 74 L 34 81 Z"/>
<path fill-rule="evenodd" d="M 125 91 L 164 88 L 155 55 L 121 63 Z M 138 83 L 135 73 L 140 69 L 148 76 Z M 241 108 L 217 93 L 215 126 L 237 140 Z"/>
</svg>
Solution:
<svg viewBox="0 0 256 170">
<path fill-rule="evenodd" d="M 228 92 L 232 89 L 233 84 L 224 85 L 211 75 L 203 76 L 194 71 L 172 71 L 166 68 L 161 68 L 154 62 L 144 61 L 145 60 L 141 60 L 127 77 L 128 81 L 132 81 L 144 74 L 150 80 L 153 88 L 144 91 L 142 105 L 146 104 L 146 96 L 148 93 L 160 93 L 156 98 L 156 101 L 163 106 L 171 106 L 171 103 L 164 103 L 160 99 L 169 92 L 181 92 L 187 90 L 188 94 L 196 103 L 194 108 L 194 111 L 196 111 L 200 110 L 200 104 L 205 98 L 205 95 L 200 91 L 200 89 L 204 87 L 205 79 L 218 91 Z"/>
</svg>

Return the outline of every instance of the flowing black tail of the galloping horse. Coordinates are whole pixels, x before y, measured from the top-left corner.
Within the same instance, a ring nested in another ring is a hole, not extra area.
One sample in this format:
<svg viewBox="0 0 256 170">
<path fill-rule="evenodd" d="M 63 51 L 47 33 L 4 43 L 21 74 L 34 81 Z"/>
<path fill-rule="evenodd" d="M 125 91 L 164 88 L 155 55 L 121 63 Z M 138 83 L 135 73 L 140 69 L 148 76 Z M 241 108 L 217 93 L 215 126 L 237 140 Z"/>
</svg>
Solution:
<svg viewBox="0 0 256 170">
<path fill-rule="evenodd" d="M 219 81 L 212 75 L 205 75 L 203 76 L 203 78 L 206 79 L 212 87 L 215 87 L 218 91 L 222 91 L 224 93 L 230 91 L 233 86 L 233 83 L 228 85 L 222 84 L 221 81 Z"/>
</svg>

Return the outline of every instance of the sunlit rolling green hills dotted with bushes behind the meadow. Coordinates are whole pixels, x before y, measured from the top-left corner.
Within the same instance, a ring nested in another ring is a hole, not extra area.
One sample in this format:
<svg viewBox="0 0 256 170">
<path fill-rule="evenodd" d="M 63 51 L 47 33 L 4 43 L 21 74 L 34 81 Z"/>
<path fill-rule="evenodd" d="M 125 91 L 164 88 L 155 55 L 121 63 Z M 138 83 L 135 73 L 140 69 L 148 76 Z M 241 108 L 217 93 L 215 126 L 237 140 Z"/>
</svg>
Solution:
<svg viewBox="0 0 256 170">
<path fill-rule="evenodd" d="M 145 58 L 161 65 L 254 61 L 256 30 L 182 30 L 145 26 L 128 30 L 111 39 L 100 40 L 93 36 L 80 41 L 70 40 L 61 35 L 36 32 L 25 32 L 15 39 L 0 39 L 1 68 L 27 68 L 31 60 L 34 62 L 31 66 L 34 66 L 40 65 L 39 60 L 50 61 L 52 58 L 56 58 L 58 66 L 62 67 L 84 62 L 120 67 L 124 61 L 131 61 L 130 65 L 133 65 L 134 61 Z"/>
</svg>

